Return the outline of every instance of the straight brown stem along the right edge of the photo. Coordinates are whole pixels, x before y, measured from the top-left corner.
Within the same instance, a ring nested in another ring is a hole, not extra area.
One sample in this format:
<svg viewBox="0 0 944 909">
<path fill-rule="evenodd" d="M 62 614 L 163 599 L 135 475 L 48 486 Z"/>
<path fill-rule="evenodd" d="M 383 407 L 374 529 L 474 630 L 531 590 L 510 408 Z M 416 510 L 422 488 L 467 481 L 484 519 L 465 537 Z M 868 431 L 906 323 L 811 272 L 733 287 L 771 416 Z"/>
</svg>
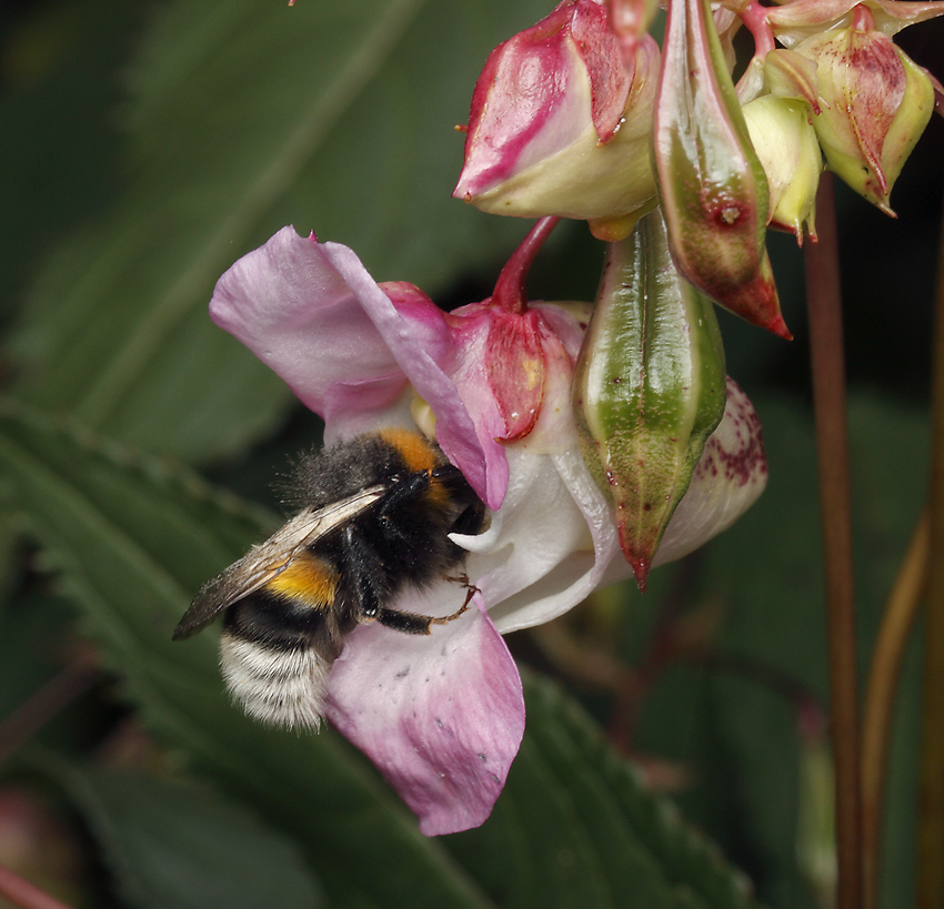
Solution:
<svg viewBox="0 0 944 909">
<path fill-rule="evenodd" d="M 916 905 L 944 906 L 944 225 L 937 259 L 932 373 L 931 554 L 924 629 L 924 705 Z"/>
</svg>

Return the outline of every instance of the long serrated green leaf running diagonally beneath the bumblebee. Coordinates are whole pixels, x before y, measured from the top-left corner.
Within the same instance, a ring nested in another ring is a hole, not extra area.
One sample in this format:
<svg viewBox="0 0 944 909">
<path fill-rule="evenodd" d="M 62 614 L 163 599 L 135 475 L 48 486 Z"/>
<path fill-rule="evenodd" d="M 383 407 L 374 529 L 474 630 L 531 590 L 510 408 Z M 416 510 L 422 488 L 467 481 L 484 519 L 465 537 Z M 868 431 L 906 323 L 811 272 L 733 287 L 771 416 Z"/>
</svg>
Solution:
<svg viewBox="0 0 944 909">
<path fill-rule="evenodd" d="M 294 837 L 339 905 L 409 895 L 411 906 L 482 909 L 755 906 L 744 879 L 643 789 L 580 709 L 535 680 L 493 817 L 456 837 L 420 837 L 339 737 L 239 715 L 222 695 L 212 635 L 170 642 L 188 592 L 258 538 L 258 521 L 180 471 L 16 412 L 0 415 L 0 476 L 145 724 Z M 366 865 L 365 844 L 382 844 Z"/>
</svg>

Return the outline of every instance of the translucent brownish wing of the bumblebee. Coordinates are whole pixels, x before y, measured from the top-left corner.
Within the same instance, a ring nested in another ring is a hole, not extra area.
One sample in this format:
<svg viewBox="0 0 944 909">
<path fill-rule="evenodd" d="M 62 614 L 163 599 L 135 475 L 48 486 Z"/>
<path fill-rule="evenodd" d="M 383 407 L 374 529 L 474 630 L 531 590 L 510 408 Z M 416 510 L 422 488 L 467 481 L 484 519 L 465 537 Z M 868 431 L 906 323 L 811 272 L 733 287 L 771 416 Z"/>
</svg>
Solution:
<svg viewBox="0 0 944 909">
<path fill-rule="evenodd" d="M 297 514 L 269 539 L 253 546 L 239 562 L 200 588 L 174 628 L 173 639 L 190 637 L 228 606 L 264 587 L 302 549 L 356 517 L 385 492 L 385 486 L 371 486 L 323 508 L 305 508 Z"/>
</svg>

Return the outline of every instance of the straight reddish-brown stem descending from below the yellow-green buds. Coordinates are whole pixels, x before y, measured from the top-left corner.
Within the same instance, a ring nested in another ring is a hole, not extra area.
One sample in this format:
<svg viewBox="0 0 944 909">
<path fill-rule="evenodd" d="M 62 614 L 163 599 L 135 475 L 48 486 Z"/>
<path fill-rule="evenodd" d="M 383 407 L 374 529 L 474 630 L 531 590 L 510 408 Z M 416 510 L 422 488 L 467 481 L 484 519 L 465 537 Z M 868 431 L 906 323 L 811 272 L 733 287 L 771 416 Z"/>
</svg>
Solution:
<svg viewBox="0 0 944 909">
<path fill-rule="evenodd" d="M 852 506 L 838 242 L 830 174 L 824 174 L 820 181 L 816 225 L 820 229 L 820 242 L 807 243 L 804 253 L 826 576 L 830 711 L 836 776 L 836 907 L 862 909 L 862 788 Z"/>
</svg>

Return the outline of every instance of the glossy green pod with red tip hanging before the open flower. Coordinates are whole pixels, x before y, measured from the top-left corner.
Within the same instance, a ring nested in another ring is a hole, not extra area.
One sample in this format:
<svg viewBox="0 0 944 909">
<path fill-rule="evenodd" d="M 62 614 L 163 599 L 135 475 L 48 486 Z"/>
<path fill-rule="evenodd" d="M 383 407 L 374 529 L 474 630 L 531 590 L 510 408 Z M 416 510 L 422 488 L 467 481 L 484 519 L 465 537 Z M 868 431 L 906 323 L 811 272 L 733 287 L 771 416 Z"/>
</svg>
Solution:
<svg viewBox="0 0 944 909">
<path fill-rule="evenodd" d="M 676 271 L 659 210 L 610 244 L 573 396 L 584 461 L 613 501 L 620 545 L 645 589 L 725 403 L 713 305 Z"/>
</svg>

